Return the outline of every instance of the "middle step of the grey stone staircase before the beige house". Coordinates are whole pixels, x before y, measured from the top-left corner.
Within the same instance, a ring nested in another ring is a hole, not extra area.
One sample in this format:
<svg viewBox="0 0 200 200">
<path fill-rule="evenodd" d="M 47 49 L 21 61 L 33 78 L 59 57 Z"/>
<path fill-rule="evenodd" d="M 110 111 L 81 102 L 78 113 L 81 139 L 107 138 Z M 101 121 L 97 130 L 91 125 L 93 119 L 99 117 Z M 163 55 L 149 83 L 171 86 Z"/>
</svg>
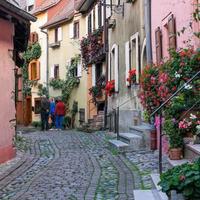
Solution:
<svg viewBox="0 0 200 200">
<path fill-rule="evenodd" d="M 119 133 L 120 140 L 129 144 L 129 149 L 137 151 L 144 149 L 142 136 L 134 133 Z"/>
</svg>

